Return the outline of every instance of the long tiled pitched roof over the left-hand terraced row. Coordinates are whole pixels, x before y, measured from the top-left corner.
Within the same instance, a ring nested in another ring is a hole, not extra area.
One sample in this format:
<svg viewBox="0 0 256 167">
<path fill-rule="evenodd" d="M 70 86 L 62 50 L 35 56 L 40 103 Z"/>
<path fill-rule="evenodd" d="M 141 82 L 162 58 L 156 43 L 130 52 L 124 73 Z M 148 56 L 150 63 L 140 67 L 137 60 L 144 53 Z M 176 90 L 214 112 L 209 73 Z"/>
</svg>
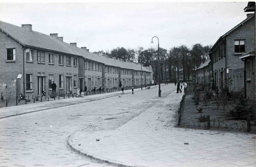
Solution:
<svg viewBox="0 0 256 167">
<path fill-rule="evenodd" d="M 76 46 L 70 45 L 66 42 L 62 42 L 50 35 L 42 34 L 32 30 L 30 31 L 23 27 L 15 26 L 9 23 L 5 23 L 3 21 L 0 21 L 0 30 L 8 34 L 17 42 L 26 47 L 34 47 L 38 49 L 46 49 L 49 51 L 55 51 L 64 54 L 82 56 L 85 59 L 89 59 L 110 66 L 140 70 L 140 66 L 135 65 L 133 63 L 121 62 L 119 60 L 107 58 L 102 55 L 90 53 L 85 49 L 81 49 Z M 148 71 L 148 69 L 144 67 L 142 67 L 142 70 Z"/>
</svg>

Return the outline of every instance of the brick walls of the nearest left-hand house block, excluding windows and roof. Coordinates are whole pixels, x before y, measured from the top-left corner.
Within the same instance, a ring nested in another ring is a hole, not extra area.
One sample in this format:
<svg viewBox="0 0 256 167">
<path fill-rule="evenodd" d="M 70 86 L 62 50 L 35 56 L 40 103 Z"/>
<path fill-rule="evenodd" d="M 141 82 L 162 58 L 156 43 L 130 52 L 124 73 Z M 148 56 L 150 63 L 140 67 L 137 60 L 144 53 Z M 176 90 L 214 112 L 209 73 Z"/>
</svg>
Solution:
<svg viewBox="0 0 256 167">
<path fill-rule="evenodd" d="M 13 40 L 11 37 L 7 36 L 3 32 L 0 32 L 0 83 L 9 83 L 13 79 L 17 79 L 18 74 L 22 74 L 20 79 L 20 92 L 17 95 L 23 93 L 23 52 L 25 54 L 26 48 L 23 48 L 18 42 Z M 15 61 L 6 61 L 6 48 L 15 48 L 16 51 L 16 60 Z M 25 82 L 25 94 L 32 96 L 41 94 L 38 93 L 38 75 L 44 73 L 44 90 L 46 94 L 52 92 L 51 88 L 49 88 L 49 74 L 54 75 L 54 82 L 57 85 L 56 91 L 61 90 L 66 92 L 66 76 L 67 73 L 70 75 L 71 79 L 71 90 L 73 92 L 76 91 L 77 87 L 74 87 L 74 75 L 77 75 L 77 86 L 78 86 L 78 66 L 73 65 L 73 58 L 71 56 L 71 65 L 66 65 L 66 55 L 64 57 L 64 64 L 59 64 L 59 54 L 53 52 L 45 51 L 45 61 L 44 63 L 37 62 L 37 50 L 33 49 L 33 61 L 26 61 L 25 57 L 25 81 L 26 81 L 26 74 L 33 74 L 32 83 L 33 83 L 33 90 L 26 90 L 26 82 Z M 50 64 L 48 62 L 48 54 L 53 54 L 53 63 Z M 59 74 L 63 74 L 63 88 L 59 88 Z M 16 95 L 12 95 L 12 98 L 15 98 Z"/>
</svg>

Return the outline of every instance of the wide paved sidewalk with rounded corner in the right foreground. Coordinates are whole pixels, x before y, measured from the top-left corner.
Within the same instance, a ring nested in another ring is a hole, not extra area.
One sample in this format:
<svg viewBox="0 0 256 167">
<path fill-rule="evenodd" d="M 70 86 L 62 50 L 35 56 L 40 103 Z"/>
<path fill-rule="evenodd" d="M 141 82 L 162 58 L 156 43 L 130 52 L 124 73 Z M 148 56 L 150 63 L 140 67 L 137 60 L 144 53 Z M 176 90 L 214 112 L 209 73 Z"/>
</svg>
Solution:
<svg viewBox="0 0 256 167">
<path fill-rule="evenodd" d="M 119 166 L 256 165 L 255 135 L 175 128 L 177 119 L 168 118 L 176 114 L 182 95 L 174 91 L 152 100 L 155 106 L 116 130 L 76 132 L 68 144 L 82 155 Z"/>
</svg>

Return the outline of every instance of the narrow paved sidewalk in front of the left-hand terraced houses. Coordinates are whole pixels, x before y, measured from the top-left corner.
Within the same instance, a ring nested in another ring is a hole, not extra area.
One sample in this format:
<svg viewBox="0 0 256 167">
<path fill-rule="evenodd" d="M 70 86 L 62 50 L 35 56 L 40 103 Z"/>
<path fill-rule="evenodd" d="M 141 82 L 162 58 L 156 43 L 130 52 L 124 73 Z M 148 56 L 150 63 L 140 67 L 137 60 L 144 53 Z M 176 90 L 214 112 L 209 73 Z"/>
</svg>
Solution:
<svg viewBox="0 0 256 167">
<path fill-rule="evenodd" d="M 161 86 L 163 86 L 162 84 Z M 151 86 L 151 88 L 157 88 L 158 85 L 156 86 Z M 141 88 L 134 89 L 134 92 L 139 92 L 139 91 L 144 91 L 141 90 Z M 18 105 L 18 106 L 10 106 L 10 107 L 3 107 L 0 108 L 0 119 L 1 118 L 6 118 L 6 117 L 12 117 L 12 116 L 17 116 L 21 114 L 26 114 L 26 113 L 31 113 L 31 112 L 36 112 L 36 111 L 42 111 L 42 110 L 48 110 L 52 108 L 58 108 L 58 107 L 63 107 L 63 106 L 68 106 L 68 105 L 74 105 L 82 102 L 89 102 L 93 100 L 99 100 L 99 99 L 104 99 L 104 98 L 109 98 L 109 97 L 114 97 L 118 96 L 121 94 L 122 91 L 117 91 L 117 92 L 111 92 L 111 93 L 102 93 L 98 95 L 88 95 L 84 97 L 70 97 L 68 98 L 66 96 L 65 99 L 60 99 L 56 98 L 56 100 L 51 100 L 47 102 L 37 102 L 37 103 L 28 103 L 28 104 L 23 104 L 23 105 Z M 132 93 L 132 90 L 124 90 L 124 93 Z"/>
</svg>

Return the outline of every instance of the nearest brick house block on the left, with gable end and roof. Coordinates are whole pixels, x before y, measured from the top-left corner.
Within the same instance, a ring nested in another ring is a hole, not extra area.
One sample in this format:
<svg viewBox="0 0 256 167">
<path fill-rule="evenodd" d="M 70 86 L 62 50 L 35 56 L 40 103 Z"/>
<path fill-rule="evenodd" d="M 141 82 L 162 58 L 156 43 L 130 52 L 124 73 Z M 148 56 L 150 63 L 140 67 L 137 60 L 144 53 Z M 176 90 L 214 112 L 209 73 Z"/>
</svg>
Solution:
<svg viewBox="0 0 256 167">
<path fill-rule="evenodd" d="M 78 87 L 79 55 L 66 47 L 57 34 L 41 34 L 32 30 L 32 25 L 14 26 L 0 21 L 0 90 L 5 97 L 41 95 L 42 91 L 63 93 Z M 15 84 L 15 89 L 10 90 Z"/>
</svg>

